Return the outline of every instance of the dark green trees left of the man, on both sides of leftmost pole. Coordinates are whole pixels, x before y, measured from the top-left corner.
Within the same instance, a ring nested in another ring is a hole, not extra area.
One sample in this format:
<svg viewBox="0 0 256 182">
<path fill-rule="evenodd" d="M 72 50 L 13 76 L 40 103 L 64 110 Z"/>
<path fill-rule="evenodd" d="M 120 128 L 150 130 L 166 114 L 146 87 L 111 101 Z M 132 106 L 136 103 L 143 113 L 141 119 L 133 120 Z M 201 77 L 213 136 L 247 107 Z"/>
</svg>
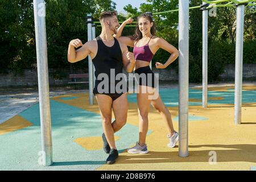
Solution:
<svg viewBox="0 0 256 182">
<path fill-rule="evenodd" d="M 0 73 L 32 68 L 36 63 L 34 10 L 31 0 L 0 0 Z M 110 0 L 46 0 L 46 31 L 49 68 L 65 68 L 71 39 L 87 41 L 86 14 L 94 17 L 103 10 L 114 10 Z M 80 61 L 74 67 L 85 68 Z"/>
</svg>

